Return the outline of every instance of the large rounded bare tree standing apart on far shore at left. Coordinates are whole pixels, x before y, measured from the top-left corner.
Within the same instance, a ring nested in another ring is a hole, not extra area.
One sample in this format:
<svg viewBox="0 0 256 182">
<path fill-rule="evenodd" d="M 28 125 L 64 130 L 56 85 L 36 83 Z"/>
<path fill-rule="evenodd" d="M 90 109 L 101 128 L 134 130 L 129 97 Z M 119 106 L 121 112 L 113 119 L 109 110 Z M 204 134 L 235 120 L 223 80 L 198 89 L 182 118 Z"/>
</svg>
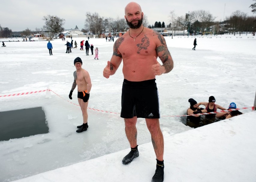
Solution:
<svg viewBox="0 0 256 182">
<path fill-rule="evenodd" d="M 43 20 L 45 21 L 44 29 L 49 32 L 51 37 L 64 29 L 62 26 L 64 25 L 65 19 L 61 19 L 58 16 L 47 15 L 44 16 Z"/>
</svg>

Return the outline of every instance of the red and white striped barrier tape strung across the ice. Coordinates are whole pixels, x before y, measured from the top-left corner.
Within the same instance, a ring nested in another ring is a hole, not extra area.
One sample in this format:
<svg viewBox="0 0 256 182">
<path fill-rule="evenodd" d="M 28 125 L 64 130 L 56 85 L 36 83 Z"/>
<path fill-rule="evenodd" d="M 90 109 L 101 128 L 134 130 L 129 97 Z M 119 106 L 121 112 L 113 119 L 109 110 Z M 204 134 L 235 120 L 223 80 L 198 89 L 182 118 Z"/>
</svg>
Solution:
<svg viewBox="0 0 256 182">
<path fill-rule="evenodd" d="M 27 94 L 32 94 L 32 93 L 39 93 L 39 92 L 45 92 L 45 91 L 51 91 L 53 92 L 52 90 L 50 89 L 47 89 L 47 90 L 39 90 L 39 91 L 34 91 L 34 92 L 23 92 L 23 93 L 15 93 L 15 94 L 9 94 L 9 95 L 0 95 L 0 97 L 9 97 L 9 96 L 15 96 L 15 95 L 27 95 Z M 58 95 L 57 93 L 53 92 L 54 94 Z M 69 100 L 63 98 L 62 96 L 58 95 L 60 98 L 68 101 L 69 103 L 71 104 L 74 104 L 74 105 L 77 105 L 79 106 L 78 104 L 75 104 L 73 102 L 70 102 Z M 110 111 L 104 111 L 104 110 L 99 110 L 99 109 L 93 109 L 93 108 L 90 108 L 90 107 L 87 107 L 88 109 L 90 110 L 96 110 L 96 111 L 101 111 L 101 112 L 104 112 L 104 113 L 113 113 L 113 114 L 120 114 L 120 113 L 115 113 L 115 112 L 110 112 Z M 254 107 L 242 107 L 241 109 L 249 109 L 251 108 L 252 110 L 254 110 Z M 176 116 L 162 116 L 162 117 L 181 117 L 181 116 L 197 116 L 197 115 L 207 115 L 207 114 L 216 114 L 216 113 L 225 113 L 225 112 L 230 112 L 232 110 L 241 110 L 239 108 L 236 108 L 236 109 L 229 109 L 229 110 L 221 110 L 221 111 L 215 111 L 215 112 L 209 112 L 209 113 L 200 113 L 200 114 L 190 114 L 190 115 L 176 115 Z"/>
</svg>

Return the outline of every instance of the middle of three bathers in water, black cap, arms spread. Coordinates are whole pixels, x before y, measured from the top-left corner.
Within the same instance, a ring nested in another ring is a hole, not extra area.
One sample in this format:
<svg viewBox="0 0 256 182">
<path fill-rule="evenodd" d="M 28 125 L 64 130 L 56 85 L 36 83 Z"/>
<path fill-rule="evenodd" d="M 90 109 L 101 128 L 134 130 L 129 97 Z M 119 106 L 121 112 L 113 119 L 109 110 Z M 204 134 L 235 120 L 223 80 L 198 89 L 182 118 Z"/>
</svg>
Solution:
<svg viewBox="0 0 256 182">
<path fill-rule="evenodd" d="M 221 107 L 220 105 L 218 104 L 215 104 L 215 98 L 214 96 L 210 96 L 209 97 L 209 102 L 199 102 L 198 103 L 198 106 L 200 105 L 204 105 L 205 106 L 205 109 L 207 110 L 208 113 L 210 112 L 216 112 L 217 109 L 220 109 L 220 110 L 227 110 L 226 108 L 224 107 Z M 206 118 L 215 118 L 215 116 L 217 118 L 222 118 L 222 117 L 225 117 L 228 113 L 217 113 L 217 114 L 207 114 L 205 115 Z"/>
</svg>

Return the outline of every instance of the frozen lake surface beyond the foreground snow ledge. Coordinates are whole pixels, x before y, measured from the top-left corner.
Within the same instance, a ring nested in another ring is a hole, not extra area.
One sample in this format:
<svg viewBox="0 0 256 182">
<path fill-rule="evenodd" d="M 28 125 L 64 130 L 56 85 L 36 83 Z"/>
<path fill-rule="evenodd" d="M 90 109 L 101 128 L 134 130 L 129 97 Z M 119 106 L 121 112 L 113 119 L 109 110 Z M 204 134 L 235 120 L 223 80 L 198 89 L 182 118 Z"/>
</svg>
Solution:
<svg viewBox="0 0 256 182">
<path fill-rule="evenodd" d="M 74 40 L 80 42 L 81 38 Z M 186 112 L 189 98 L 200 102 L 214 95 L 216 104 L 223 107 L 230 102 L 235 102 L 238 108 L 253 105 L 255 40 L 198 37 L 197 50 L 193 51 L 194 38 L 166 37 L 174 69 L 156 78 L 164 137 L 192 129 L 180 117 L 171 117 Z M 61 40 L 51 43 L 53 56 L 49 56 L 47 41 L 7 42 L 7 47 L 0 49 L 0 95 L 49 87 L 62 97 L 51 92 L 51 97 L 46 98 L 46 92 L 41 92 L 0 98 L 0 112 L 43 107 L 50 130 L 48 134 L 0 142 L 0 181 L 24 178 L 130 147 L 118 114 L 88 110 L 88 130 L 76 133 L 76 126 L 82 124 L 81 110 L 66 101 L 73 83 L 73 60 L 79 56 L 93 84 L 88 107 L 120 112 L 122 64 L 109 79 L 102 76 L 112 55 L 113 42 L 90 39 L 90 44 L 99 47 L 99 60 L 79 49 L 66 54 L 65 42 Z M 69 101 L 78 104 L 76 91 Z M 144 119 L 138 119 L 137 130 L 138 145 L 151 142 Z"/>
</svg>

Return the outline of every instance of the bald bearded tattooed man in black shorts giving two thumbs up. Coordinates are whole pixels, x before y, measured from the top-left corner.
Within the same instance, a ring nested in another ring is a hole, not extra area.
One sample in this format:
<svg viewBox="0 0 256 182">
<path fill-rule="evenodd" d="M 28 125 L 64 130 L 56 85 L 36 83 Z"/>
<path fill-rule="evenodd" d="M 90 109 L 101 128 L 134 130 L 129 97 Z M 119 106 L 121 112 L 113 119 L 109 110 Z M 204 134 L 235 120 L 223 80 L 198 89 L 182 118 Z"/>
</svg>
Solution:
<svg viewBox="0 0 256 182">
<path fill-rule="evenodd" d="M 131 151 L 123 160 L 129 164 L 139 157 L 137 145 L 137 118 L 145 118 L 151 134 L 157 167 L 152 181 L 163 181 L 163 134 L 160 129 L 159 98 L 156 75 L 169 73 L 173 69 L 173 60 L 163 36 L 142 25 L 143 12 L 136 2 L 125 7 L 125 16 L 130 30 L 114 43 L 113 55 L 103 70 L 103 76 L 114 75 L 123 60 L 123 87 L 121 117 L 124 118 L 125 133 Z M 160 58 L 163 65 L 158 63 Z"/>
</svg>

